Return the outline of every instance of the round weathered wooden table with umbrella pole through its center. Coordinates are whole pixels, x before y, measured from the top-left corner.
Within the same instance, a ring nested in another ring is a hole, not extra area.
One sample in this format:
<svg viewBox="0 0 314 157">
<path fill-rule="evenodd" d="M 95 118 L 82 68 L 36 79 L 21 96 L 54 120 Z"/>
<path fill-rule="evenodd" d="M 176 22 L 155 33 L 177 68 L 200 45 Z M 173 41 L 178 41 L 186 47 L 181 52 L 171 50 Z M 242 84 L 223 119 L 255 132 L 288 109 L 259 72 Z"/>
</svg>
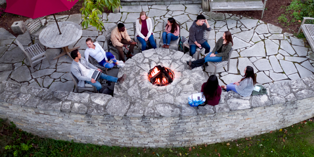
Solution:
<svg viewBox="0 0 314 157">
<path fill-rule="evenodd" d="M 72 58 L 70 52 L 78 49 L 80 46 L 72 49 L 68 49 L 68 46 L 81 38 L 82 28 L 73 22 L 58 22 L 58 25 L 62 34 L 59 33 L 57 24 L 51 24 L 41 31 L 39 42 L 46 47 L 62 48 L 63 52 L 53 59 L 57 59 L 65 54 Z"/>
</svg>

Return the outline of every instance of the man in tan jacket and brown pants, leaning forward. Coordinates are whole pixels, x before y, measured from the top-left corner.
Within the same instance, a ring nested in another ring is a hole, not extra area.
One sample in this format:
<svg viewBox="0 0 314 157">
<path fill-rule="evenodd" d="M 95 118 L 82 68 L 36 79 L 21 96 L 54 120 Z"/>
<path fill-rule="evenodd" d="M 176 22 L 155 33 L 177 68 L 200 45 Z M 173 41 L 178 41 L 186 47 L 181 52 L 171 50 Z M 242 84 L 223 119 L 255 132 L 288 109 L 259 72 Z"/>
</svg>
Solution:
<svg viewBox="0 0 314 157">
<path fill-rule="evenodd" d="M 127 45 L 130 45 L 129 52 L 127 52 L 127 58 L 133 57 L 131 53 L 133 53 L 134 46 L 137 44 L 133 40 L 131 40 L 130 36 L 127 34 L 127 29 L 125 29 L 124 24 L 119 23 L 118 27 L 112 30 L 111 32 L 111 41 L 112 45 L 116 47 L 116 49 L 119 51 L 119 59 L 125 62 L 124 60 L 124 53 L 123 48 L 127 48 Z"/>
</svg>

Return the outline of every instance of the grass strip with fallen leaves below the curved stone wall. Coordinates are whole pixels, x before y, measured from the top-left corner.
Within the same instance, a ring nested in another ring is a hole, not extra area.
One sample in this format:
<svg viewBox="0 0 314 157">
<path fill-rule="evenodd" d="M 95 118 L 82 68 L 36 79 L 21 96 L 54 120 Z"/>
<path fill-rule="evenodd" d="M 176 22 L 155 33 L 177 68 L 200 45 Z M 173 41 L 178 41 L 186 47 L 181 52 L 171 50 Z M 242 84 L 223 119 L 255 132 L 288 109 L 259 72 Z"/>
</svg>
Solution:
<svg viewBox="0 0 314 157">
<path fill-rule="evenodd" d="M 282 130 L 224 143 L 183 148 L 120 148 L 40 138 L 0 119 L 1 157 L 312 157 L 314 123 L 304 121 Z M 15 155 L 14 155 L 15 154 Z"/>
</svg>

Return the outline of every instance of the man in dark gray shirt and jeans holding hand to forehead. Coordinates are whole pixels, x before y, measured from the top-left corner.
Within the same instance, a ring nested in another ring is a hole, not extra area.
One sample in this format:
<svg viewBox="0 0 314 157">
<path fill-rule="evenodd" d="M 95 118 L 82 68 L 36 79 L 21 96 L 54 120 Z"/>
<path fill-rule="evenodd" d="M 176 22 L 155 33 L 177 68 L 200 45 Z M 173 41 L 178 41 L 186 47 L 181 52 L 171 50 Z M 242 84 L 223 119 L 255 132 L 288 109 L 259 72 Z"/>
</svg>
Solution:
<svg viewBox="0 0 314 157">
<path fill-rule="evenodd" d="M 210 46 L 207 41 L 203 39 L 204 30 L 210 31 L 210 25 L 204 15 L 197 15 L 196 20 L 189 29 L 190 56 L 192 57 L 196 52 L 196 46 L 199 48 L 204 47 L 205 54 L 210 50 Z"/>
</svg>

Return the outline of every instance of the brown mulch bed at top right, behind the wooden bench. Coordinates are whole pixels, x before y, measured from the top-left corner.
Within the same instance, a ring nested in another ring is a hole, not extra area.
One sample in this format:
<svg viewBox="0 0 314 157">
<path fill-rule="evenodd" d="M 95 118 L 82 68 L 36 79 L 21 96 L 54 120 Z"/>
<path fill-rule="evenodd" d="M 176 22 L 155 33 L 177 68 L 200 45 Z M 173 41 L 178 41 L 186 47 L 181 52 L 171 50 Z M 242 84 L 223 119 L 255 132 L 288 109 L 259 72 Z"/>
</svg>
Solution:
<svg viewBox="0 0 314 157">
<path fill-rule="evenodd" d="M 264 0 L 262 0 L 264 3 Z M 262 11 L 263 10 L 252 10 L 252 11 L 223 11 L 222 13 L 229 13 L 229 14 L 236 14 L 236 15 L 242 15 L 245 17 L 252 17 L 254 19 L 260 19 L 264 21 L 265 23 L 273 24 L 275 26 L 279 26 L 283 29 L 283 32 L 288 33 L 297 33 L 300 27 L 301 23 L 295 22 L 291 23 L 289 26 L 284 26 L 280 23 L 278 23 L 278 17 L 281 14 L 285 14 L 286 9 L 285 7 L 289 6 L 292 0 L 268 0 L 266 2 L 267 10 L 264 11 L 263 19 L 261 19 Z M 283 8 L 281 8 L 284 6 Z M 291 17 L 288 16 L 288 21 L 291 20 Z"/>
</svg>

